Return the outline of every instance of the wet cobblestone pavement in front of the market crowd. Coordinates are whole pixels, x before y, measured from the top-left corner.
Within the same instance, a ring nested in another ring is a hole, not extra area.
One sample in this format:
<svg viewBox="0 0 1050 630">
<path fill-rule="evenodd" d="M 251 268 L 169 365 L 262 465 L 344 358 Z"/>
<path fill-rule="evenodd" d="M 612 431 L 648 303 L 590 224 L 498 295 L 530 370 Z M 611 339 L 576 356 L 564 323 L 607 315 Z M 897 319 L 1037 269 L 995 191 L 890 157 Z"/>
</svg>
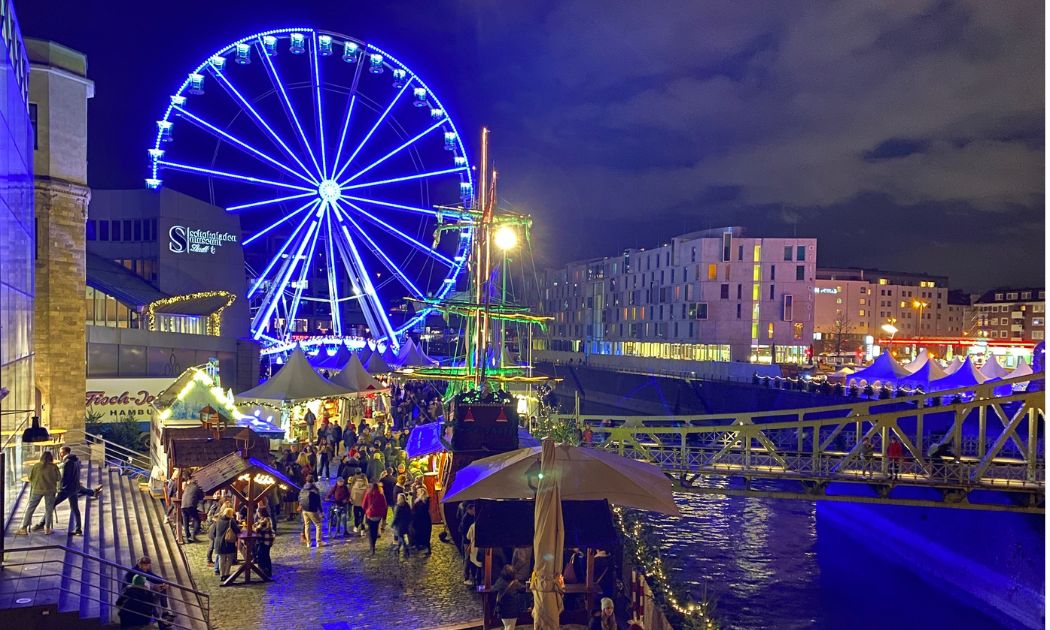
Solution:
<svg viewBox="0 0 1050 630">
<path fill-rule="evenodd" d="M 296 524 L 279 522 L 271 549 L 275 580 L 266 584 L 219 587 L 207 566 L 207 537 L 185 545 L 197 588 L 211 597 L 216 630 L 393 630 L 481 618 L 481 600 L 462 584 L 459 553 L 438 540 L 438 526 L 433 555 L 399 560 L 388 528 L 373 556 L 368 538 L 326 537 L 326 546 L 307 548 Z"/>
</svg>

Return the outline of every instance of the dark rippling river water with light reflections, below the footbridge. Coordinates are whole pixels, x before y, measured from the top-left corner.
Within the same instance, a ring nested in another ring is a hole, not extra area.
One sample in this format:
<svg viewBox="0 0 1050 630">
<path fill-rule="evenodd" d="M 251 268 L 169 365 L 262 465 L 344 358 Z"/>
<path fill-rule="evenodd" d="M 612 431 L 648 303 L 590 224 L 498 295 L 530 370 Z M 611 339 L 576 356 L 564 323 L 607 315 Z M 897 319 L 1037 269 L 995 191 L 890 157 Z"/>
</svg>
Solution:
<svg viewBox="0 0 1050 630">
<path fill-rule="evenodd" d="M 697 598 L 706 583 L 727 628 L 1015 627 L 942 592 L 875 545 L 826 525 L 818 538 L 812 502 L 687 494 L 677 501 L 680 519 L 650 522 L 672 573 Z M 946 519 L 965 519 L 937 509 Z"/>
</svg>

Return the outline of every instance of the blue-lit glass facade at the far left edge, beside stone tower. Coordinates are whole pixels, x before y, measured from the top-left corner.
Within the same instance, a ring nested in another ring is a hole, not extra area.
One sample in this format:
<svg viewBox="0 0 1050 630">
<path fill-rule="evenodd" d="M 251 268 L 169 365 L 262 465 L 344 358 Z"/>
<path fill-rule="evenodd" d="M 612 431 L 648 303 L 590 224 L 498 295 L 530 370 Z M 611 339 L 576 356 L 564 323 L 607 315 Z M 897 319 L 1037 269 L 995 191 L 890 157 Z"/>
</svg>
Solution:
<svg viewBox="0 0 1050 630">
<path fill-rule="evenodd" d="M 36 295 L 29 58 L 12 0 L 0 0 L 0 426 L 39 413 L 34 395 Z"/>
</svg>

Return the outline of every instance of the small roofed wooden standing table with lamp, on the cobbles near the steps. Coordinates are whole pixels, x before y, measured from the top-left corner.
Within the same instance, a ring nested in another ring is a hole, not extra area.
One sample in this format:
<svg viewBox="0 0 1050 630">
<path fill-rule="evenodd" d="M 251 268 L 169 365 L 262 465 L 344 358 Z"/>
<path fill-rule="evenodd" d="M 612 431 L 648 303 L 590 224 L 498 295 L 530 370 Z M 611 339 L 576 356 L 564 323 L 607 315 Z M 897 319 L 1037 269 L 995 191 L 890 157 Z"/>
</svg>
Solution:
<svg viewBox="0 0 1050 630">
<path fill-rule="evenodd" d="M 215 460 L 197 469 L 192 475 L 192 479 L 197 482 L 205 494 L 212 494 L 218 490 L 229 489 L 233 495 L 235 509 L 239 511 L 240 506 L 247 506 L 248 513 L 245 522 L 248 526 L 240 530 L 239 542 L 242 543 L 242 553 L 245 561 L 237 566 L 237 570 L 230 574 L 223 582 L 223 586 L 231 586 L 237 579 L 244 576 L 243 584 L 251 584 L 252 572 L 254 571 L 264 582 L 272 580 L 265 571 L 255 564 L 255 531 L 251 524 L 255 522 L 255 503 L 265 497 L 267 492 L 289 488 L 298 489 L 299 486 L 292 480 L 285 477 L 279 470 L 271 467 L 265 461 L 252 457 L 247 452 L 231 453 L 226 457 Z"/>
</svg>

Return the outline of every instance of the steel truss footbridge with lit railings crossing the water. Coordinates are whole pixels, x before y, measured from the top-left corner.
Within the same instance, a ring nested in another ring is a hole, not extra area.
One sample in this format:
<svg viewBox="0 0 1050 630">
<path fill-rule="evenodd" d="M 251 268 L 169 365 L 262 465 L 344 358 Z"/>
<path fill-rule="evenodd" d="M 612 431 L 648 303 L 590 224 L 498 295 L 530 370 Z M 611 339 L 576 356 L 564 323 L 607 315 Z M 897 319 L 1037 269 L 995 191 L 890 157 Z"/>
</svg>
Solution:
<svg viewBox="0 0 1050 630">
<path fill-rule="evenodd" d="M 1044 513 L 1044 383 L 1038 373 L 800 410 L 556 418 L 687 491 Z"/>
</svg>

